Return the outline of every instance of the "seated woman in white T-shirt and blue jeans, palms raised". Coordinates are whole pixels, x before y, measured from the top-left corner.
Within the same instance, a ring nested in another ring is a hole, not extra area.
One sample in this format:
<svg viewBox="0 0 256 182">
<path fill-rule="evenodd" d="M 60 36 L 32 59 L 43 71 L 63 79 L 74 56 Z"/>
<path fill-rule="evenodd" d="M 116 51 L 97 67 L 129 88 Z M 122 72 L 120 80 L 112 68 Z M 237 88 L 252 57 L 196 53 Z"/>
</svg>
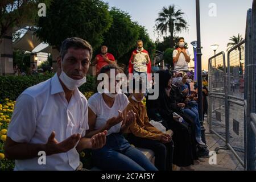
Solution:
<svg viewBox="0 0 256 182">
<path fill-rule="evenodd" d="M 110 74 L 112 70 L 114 75 Z M 120 72 L 117 66 L 111 64 L 100 71 L 108 75 L 109 85 L 114 82 L 114 86 L 118 82 L 115 77 Z M 90 137 L 99 131 L 108 130 L 106 145 L 100 150 L 92 151 L 94 165 L 102 170 L 111 171 L 157 171 L 154 164 L 141 151 L 131 146 L 122 135 L 136 116 L 132 110 L 126 110 L 128 98 L 116 91 L 109 93 L 110 86 L 105 90 L 107 92 L 95 93 L 88 100 L 89 130 L 86 136 Z"/>
</svg>

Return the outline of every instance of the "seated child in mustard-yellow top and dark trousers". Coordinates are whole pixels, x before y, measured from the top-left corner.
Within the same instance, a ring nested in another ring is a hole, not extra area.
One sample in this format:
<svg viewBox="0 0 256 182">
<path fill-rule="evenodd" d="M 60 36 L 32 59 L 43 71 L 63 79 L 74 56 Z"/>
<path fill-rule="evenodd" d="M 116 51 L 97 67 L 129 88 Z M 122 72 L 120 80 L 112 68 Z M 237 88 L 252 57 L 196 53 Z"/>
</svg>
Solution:
<svg viewBox="0 0 256 182">
<path fill-rule="evenodd" d="M 136 121 L 130 125 L 131 133 L 128 135 L 128 140 L 136 147 L 148 148 L 154 151 L 155 167 L 160 171 L 172 171 L 172 153 L 174 148 L 171 136 L 159 131 L 150 124 L 146 106 L 142 103 L 144 98 L 141 89 L 142 81 L 137 81 L 139 82 L 139 88 L 135 89 L 136 80 L 133 79 L 134 93 L 129 96 L 130 103 L 127 106 L 127 110 L 133 110 L 136 114 Z"/>
</svg>

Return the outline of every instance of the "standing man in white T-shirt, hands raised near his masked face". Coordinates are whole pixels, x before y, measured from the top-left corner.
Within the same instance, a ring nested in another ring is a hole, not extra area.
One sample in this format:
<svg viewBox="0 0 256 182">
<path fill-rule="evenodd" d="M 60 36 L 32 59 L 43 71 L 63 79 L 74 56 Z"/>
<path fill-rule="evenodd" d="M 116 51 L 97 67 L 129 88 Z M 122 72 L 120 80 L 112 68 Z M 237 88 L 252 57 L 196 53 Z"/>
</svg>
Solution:
<svg viewBox="0 0 256 182">
<path fill-rule="evenodd" d="M 178 48 L 172 52 L 172 57 L 174 59 L 174 69 L 176 71 L 188 72 L 188 63 L 190 62 L 189 52 L 185 46 L 185 39 L 178 39 Z"/>
</svg>

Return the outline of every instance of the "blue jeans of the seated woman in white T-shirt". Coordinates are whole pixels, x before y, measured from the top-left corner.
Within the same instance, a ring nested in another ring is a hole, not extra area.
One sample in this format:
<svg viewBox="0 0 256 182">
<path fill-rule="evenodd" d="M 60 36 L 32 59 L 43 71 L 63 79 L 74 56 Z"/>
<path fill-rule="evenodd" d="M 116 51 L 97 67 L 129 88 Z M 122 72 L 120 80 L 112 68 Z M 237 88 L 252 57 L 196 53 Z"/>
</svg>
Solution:
<svg viewBox="0 0 256 182">
<path fill-rule="evenodd" d="M 96 167 L 105 171 L 158 171 L 121 134 L 108 135 L 104 147 L 92 150 L 92 160 Z"/>
</svg>

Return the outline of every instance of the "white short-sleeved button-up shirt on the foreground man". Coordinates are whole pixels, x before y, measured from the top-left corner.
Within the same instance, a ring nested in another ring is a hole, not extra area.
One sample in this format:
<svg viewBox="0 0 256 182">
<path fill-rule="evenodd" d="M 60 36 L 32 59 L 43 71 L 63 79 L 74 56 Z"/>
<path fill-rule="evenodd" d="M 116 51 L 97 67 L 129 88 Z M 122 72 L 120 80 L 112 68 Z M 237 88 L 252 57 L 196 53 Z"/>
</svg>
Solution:
<svg viewBox="0 0 256 182">
<path fill-rule="evenodd" d="M 19 143 L 46 144 L 55 131 L 62 142 L 73 134 L 85 135 L 88 130 L 88 102 L 76 89 L 69 103 L 57 74 L 32 86 L 18 97 L 7 136 Z M 76 148 L 68 152 L 46 156 L 46 164 L 39 164 L 40 156 L 15 160 L 14 170 L 75 170 L 79 166 Z"/>
</svg>

